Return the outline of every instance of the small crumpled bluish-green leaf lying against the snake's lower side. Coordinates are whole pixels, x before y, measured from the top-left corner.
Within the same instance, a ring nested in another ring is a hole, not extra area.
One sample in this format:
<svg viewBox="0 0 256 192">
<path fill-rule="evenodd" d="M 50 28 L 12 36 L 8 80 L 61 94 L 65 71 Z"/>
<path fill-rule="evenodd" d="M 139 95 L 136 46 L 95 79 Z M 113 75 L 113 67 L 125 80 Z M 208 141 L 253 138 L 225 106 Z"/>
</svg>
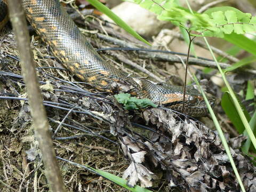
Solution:
<svg viewBox="0 0 256 192">
<path fill-rule="evenodd" d="M 135 97 L 131 97 L 131 95 L 128 93 L 116 94 L 115 98 L 119 103 L 122 103 L 124 105 L 124 108 L 127 110 L 140 109 L 146 107 L 157 107 L 157 105 L 155 105 L 149 99 L 137 99 Z"/>
</svg>

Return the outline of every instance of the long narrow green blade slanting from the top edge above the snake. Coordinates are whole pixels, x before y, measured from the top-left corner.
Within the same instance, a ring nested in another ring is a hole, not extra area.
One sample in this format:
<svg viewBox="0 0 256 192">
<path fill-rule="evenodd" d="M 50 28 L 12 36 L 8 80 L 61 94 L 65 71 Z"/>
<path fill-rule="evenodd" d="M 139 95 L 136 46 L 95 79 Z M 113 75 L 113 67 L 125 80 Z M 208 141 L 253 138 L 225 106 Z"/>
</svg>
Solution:
<svg viewBox="0 0 256 192">
<path fill-rule="evenodd" d="M 116 22 L 117 25 L 122 27 L 124 30 L 126 30 L 128 33 L 130 33 L 135 38 L 138 38 L 140 41 L 151 45 L 149 42 L 147 42 L 144 38 L 142 38 L 136 31 L 134 31 L 129 25 L 127 25 L 121 18 L 119 18 L 115 13 L 113 13 L 108 7 L 100 3 L 98 0 L 87 0 L 90 4 L 92 4 L 94 7 L 96 7 L 99 11 L 106 14 L 110 19 Z"/>
</svg>

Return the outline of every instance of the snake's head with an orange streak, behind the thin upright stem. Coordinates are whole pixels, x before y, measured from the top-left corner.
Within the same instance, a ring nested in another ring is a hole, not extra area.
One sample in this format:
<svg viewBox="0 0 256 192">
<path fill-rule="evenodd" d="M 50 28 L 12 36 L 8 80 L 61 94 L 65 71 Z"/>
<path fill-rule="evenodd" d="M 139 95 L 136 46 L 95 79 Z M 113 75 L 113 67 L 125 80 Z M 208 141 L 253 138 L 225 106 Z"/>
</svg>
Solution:
<svg viewBox="0 0 256 192">
<path fill-rule="evenodd" d="M 138 89 L 140 98 L 148 98 L 158 105 L 170 107 L 173 110 L 193 117 L 201 117 L 208 114 L 208 108 L 204 98 L 193 86 L 187 86 L 184 108 L 182 110 L 184 93 L 182 86 L 153 84 L 145 79 L 140 79 L 140 83 L 140 90 Z M 209 95 L 207 95 L 207 98 L 213 107 L 215 99 Z"/>
</svg>

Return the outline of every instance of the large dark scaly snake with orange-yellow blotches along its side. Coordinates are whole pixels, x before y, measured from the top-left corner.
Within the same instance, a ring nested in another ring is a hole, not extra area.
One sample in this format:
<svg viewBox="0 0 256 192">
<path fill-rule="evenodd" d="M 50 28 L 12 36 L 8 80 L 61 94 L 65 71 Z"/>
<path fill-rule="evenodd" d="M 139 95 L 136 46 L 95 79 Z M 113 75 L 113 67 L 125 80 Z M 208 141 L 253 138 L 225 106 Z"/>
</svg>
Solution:
<svg viewBox="0 0 256 192">
<path fill-rule="evenodd" d="M 193 86 L 187 85 L 183 100 L 182 86 L 131 77 L 110 65 L 95 51 L 59 0 L 21 0 L 21 4 L 27 20 L 49 45 L 54 57 L 81 81 L 113 94 L 129 92 L 135 97 L 149 99 L 157 105 L 182 111 L 189 116 L 208 114 L 201 93 Z M 6 0 L 0 0 L 0 27 L 8 21 L 7 12 Z M 214 98 L 209 97 L 211 106 L 214 106 L 214 101 Z"/>
</svg>

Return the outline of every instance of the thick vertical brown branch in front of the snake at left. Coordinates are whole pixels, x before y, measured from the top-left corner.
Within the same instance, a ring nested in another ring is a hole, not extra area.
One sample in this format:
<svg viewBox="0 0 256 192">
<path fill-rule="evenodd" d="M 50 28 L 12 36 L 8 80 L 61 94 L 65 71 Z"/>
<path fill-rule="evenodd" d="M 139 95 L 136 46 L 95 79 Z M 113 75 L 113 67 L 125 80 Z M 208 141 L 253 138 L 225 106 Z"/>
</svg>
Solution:
<svg viewBox="0 0 256 192">
<path fill-rule="evenodd" d="M 42 151 L 45 176 L 52 191 L 65 191 L 60 168 L 55 157 L 53 143 L 49 131 L 49 123 L 43 106 L 43 99 L 38 86 L 34 60 L 30 51 L 30 38 L 27 30 L 25 14 L 20 0 L 8 0 L 10 18 L 20 53 L 21 66 L 25 79 L 31 115 L 34 121 L 35 135 Z"/>
</svg>

